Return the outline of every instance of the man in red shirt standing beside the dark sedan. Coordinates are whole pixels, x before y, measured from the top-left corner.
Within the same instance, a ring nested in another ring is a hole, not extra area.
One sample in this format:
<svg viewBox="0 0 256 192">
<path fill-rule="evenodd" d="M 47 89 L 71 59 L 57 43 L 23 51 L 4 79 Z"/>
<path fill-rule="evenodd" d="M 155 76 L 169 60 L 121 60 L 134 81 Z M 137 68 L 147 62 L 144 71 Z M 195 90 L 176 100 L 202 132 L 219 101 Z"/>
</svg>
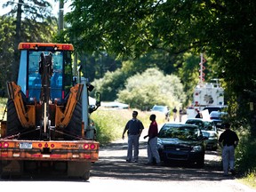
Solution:
<svg viewBox="0 0 256 192">
<path fill-rule="evenodd" d="M 160 156 L 157 151 L 157 134 L 158 127 L 156 123 L 156 115 L 152 114 L 149 117 L 151 124 L 149 125 L 148 135 L 144 137 L 146 139 L 148 137 L 148 163 L 147 165 L 154 164 L 154 158 L 156 160 L 156 165 L 161 165 Z"/>
</svg>

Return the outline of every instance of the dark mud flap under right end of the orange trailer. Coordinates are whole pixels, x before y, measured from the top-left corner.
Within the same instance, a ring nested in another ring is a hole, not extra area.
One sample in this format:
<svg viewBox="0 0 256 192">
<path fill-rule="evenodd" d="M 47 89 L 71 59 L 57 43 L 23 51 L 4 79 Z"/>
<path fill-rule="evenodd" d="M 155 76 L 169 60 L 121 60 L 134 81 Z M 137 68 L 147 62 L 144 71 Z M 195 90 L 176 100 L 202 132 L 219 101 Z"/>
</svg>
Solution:
<svg viewBox="0 0 256 192">
<path fill-rule="evenodd" d="M 91 167 L 91 162 L 68 162 L 68 177 L 89 180 Z"/>
</svg>

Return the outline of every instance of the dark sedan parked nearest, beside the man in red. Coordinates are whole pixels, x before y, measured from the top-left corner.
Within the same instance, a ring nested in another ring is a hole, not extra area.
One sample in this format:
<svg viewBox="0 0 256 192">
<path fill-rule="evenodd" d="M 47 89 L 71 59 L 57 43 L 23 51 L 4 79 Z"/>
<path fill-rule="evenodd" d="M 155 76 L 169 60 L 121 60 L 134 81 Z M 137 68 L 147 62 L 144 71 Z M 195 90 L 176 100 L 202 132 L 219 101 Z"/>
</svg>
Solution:
<svg viewBox="0 0 256 192">
<path fill-rule="evenodd" d="M 196 125 L 164 124 L 158 133 L 157 148 L 164 164 L 179 161 L 204 166 L 204 136 Z"/>
</svg>

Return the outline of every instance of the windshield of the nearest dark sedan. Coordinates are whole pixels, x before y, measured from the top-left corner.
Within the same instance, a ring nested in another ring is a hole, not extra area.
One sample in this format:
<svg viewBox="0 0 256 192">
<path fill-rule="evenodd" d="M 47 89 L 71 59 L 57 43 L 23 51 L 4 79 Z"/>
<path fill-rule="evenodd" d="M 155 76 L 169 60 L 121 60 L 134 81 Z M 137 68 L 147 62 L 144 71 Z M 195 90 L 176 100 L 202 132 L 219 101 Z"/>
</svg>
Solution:
<svg viewBox="0 0 256 192">
<path fill-rule="evenodd" d="M 165 125 L 159 132 L 158 138 L 170 138 L 180 140 L 198 140 L 200 131 L 197 127 Z"/>
</svg>

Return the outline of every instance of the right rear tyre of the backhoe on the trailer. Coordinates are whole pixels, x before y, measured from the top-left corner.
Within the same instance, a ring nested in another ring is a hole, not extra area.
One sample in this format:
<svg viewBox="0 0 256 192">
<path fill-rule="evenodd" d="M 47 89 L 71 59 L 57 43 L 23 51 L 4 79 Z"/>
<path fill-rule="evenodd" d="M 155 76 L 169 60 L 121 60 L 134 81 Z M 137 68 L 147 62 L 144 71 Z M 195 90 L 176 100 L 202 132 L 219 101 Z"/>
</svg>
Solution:
<svg viewBox="0 0 256 192">
<path fill-rule="evenodd" d="M 76 103 L 76 108 L 74 109 L 73 115 L 65 131 L 70 135 L 74 135 L 76 137 L 82 137 L 82 103 L 81 101 L 78 101 Z M 66 139 L 73 140 L 74 138 L 68 137 Z"/>
</svg>

